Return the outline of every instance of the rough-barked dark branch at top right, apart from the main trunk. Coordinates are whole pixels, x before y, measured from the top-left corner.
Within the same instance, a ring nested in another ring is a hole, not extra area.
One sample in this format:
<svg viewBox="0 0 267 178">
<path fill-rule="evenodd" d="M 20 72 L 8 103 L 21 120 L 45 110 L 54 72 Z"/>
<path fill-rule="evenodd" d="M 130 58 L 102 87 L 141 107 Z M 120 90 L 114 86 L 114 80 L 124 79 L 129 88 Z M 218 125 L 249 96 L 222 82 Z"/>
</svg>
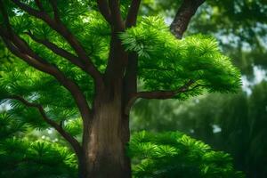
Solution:
<svg viewBox="0 0 267 178">
<path fill-rule="evenodd" d="M 171 31 L 177 38 L 182 38 L 182 34 L 187 29 L 191 18 L 197 12 L 198 7 L 205 0 L 183 0 L 182 4 L 175 15 L 174 21 L 171 24 Z"/>
</svg>

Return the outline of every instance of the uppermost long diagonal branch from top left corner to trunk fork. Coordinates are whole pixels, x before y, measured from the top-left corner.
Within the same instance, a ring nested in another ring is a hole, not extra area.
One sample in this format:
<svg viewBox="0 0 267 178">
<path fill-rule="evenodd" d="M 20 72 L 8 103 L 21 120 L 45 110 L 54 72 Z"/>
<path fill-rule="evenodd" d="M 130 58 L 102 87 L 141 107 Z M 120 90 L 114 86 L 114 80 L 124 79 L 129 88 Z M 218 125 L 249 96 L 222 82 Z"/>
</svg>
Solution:
<svg viewBox="0 0 267 178">
<path fill-rule="evenodd" d="M 12 0 L 12 2 L 20 7 L 28 14 L 36 17 L 37 19 L 44 20 L 51 28 L 57 31 L 61 36 L 63 36 L 66 41 L 70 44 L 70 46 L 74 49 L 77 53 L 79 59 L 81 59 L 85 65 L 85 68 L 90 72 L 91 76 L 93 77 L 96 85 L 102 86 L 102 77 L 101 73 L 96 69 L 93 65 L 93 62 L 85 53 L 85 49 L 83 46 L 78 42 L 77 38 L 73 36 L 73 34 L 66 28 L 60 20 L 53 20 L 49 17 L 49 15 L 45 12 L 38 12 L 35 9 L 29 7 L 27 4 L 23 4 L 20 0 Z M 56 4 L 53 3 L 53 10 L 58 11 Z"/>
</svg>

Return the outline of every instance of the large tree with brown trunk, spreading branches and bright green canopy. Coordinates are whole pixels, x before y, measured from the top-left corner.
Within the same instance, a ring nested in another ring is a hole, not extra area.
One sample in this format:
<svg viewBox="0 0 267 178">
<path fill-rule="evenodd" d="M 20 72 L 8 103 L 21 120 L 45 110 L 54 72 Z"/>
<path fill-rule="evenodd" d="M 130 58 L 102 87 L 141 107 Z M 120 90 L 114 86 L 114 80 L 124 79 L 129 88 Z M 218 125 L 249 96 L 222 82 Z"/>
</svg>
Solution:
<svg viewBox="0 0 267 178">
<path fill-rule="evenodd" d="M 182 2 L 171 25 L 175 36 L 182 37 L 202 3 Z M 137 99 L 184 100 L 239 88 L 239 71 L 214 37 L 177 39 L 158 17 L 136 23 L 140 4 L 0 1 L 0 36 L 16 56 L 1 66 L 1 100 L 32 125 L 58 131 L 77 155 L 79 177 L 130 177 L 125 144 Z M 67 129 L 79 118 L 82 142 Z"/>
</svg>

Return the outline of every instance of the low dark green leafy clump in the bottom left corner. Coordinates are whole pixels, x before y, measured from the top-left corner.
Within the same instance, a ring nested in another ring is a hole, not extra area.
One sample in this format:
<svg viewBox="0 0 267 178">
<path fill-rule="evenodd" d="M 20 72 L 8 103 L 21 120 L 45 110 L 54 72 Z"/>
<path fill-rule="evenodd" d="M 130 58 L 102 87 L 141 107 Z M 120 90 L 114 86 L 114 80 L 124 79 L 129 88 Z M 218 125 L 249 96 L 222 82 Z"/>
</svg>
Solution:
<svg viewBox="0 0 267 178">
<path fill-rule="evenodd" d="M 15 138 L 1 141 L 0 145 L 0 176 L 3 178 L 76 177 L 76 158 L 60 145 Z"/>
</svg>

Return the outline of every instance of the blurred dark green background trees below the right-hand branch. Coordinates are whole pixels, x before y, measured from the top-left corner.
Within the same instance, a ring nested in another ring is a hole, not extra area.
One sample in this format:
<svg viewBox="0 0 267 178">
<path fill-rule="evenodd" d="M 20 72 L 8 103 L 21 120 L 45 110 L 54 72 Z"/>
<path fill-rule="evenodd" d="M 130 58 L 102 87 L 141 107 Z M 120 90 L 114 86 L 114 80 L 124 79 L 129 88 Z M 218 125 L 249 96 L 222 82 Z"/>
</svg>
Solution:
<svg viewBox="0 0 267 178">
<path fill-rule="evenodd" d="M 251 87 L 251 94 L 240 91 L 190 101 L 139 101 L 131 116 L 132 131 L 182 131 L 230 153 L 235 167 L 247 177 L 263 178 L 267 176 L 266 91 L 263 81 Z"/>
</svg>

